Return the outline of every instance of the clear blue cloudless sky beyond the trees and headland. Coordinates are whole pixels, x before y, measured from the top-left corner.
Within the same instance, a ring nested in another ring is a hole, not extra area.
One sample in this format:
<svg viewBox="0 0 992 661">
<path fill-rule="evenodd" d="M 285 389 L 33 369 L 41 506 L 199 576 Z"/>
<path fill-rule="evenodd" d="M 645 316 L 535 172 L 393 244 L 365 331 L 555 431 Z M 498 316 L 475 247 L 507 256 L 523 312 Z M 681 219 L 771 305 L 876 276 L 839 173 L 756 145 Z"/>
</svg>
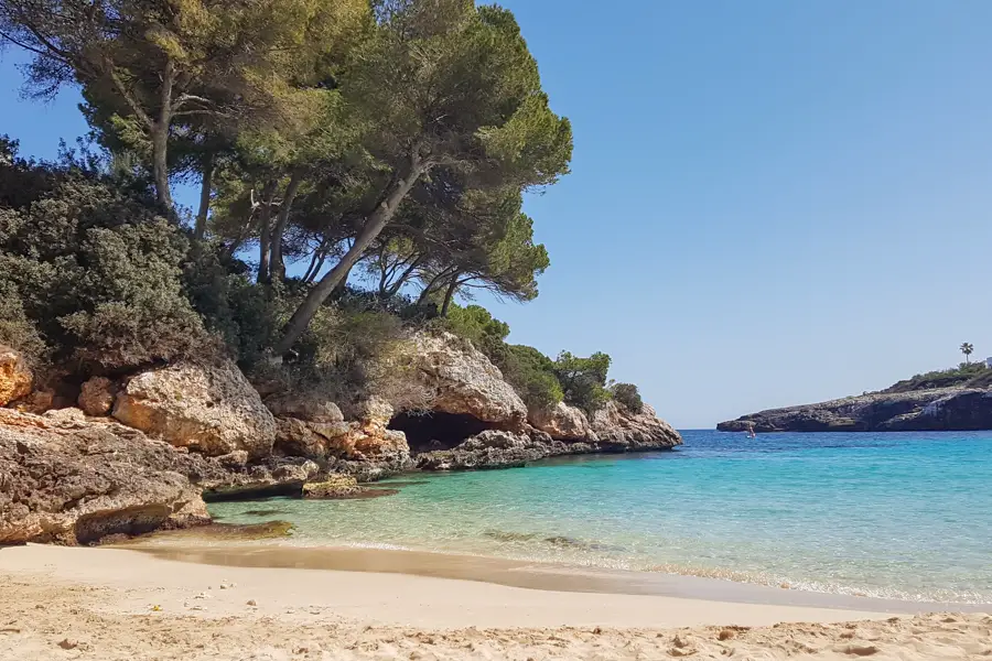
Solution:
<svg viewBox="0 0 992 661">
<path fill-rule="evenodd" d="M 672 424 L 992 356 L 992 2 L 507 0 L 572 174 L 527 210 L 551 268 L 510 339 L 613 356 Z M 0 132 L 54 155 L 76 97 Z"/>
</svg>

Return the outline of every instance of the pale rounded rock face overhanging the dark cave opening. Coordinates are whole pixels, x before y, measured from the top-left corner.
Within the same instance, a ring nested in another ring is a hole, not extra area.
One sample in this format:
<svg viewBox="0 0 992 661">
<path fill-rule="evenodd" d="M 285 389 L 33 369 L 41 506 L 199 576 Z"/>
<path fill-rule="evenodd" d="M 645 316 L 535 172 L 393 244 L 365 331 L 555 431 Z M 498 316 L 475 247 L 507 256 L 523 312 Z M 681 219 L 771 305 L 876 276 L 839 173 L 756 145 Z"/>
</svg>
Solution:
<svg viewBox="0 0 992 661">
<path fill-rule="evenodd" d="M 410 340 L 409 351 L 419 378 L 434 392 L 432 410 L 522 431 L 527 407 L 499 369 L 470 343 L 450 333 L 421 333 Z"/>
</svg>

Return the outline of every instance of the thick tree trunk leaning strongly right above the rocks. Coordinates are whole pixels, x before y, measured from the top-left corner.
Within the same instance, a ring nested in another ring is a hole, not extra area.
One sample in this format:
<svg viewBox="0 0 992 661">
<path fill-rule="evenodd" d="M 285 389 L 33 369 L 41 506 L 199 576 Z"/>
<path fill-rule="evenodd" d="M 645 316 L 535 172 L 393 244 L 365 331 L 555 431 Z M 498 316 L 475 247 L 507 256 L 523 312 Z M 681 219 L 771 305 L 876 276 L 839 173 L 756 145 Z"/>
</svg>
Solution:
<svg viewBox="0 0 992 661">
<path fill-rule="evenodd" d="M 413 184 L 417 183 L 417 180 L 423 174 L 424 170 L 425 167 L 422 163 L 414 161 L 411 163 L 410 172 L 407 173 L 403 178 L 391 184 L 390 187 L 392 189 L 386 194 L 385 199 L 382 199 L 379 206 L 376 207 L 376 210 L 365 220 L 365 226 L 362 228 L 362 231 L 358 232 L 358 237 L 355 239 L 351 249 L 345 252 L 344 257 L 341 258 L 341 261 L 337 262 L 337 266 L 331 269 L 326 275 L 321 278 L 316 286 L 310 290 L 310 293 L 306 294 L 306 297 L 303 299 L 303 302 L 293 313 L 293 316 L 285 325 L 282 339 L 273 347 L 277 356 L 282 356 L 289 351 L 293 344 L 300 339 L 300 336 L 306 330 L 306 326 L 310 325 L 313 315 L 316 314 L 320 306 L 327 296 L 331 295 L 331 292 L 334 291 L 342 280 L 347 278 L 347 274 L 351 272 L 352 267 L 355 266 L 355 262 L 357 262 L 365 253 L 371 242 L 376 240 L 376 237 L 379 236 L 382 228 L 392 220 L 392 216 L 399 208 L 400 203 L 413 187 Z"/>
</svg>

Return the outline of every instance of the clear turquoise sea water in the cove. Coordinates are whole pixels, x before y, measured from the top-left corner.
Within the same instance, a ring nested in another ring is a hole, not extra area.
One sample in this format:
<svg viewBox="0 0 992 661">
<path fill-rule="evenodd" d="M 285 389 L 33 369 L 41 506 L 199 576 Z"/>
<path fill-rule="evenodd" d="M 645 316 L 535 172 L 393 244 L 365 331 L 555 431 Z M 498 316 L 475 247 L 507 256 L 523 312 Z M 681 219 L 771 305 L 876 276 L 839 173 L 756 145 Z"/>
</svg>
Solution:
<svg viewBox="0 0 992 661">
<path fill-rule="evenodd" d="M 373 500 L 211 506 L 287 542 L 992 603 L 992 433 L 683 432 L 677 451 L 414 475 Z M 258 509 L 277 513 L 248 514 Z"/>
</svg>

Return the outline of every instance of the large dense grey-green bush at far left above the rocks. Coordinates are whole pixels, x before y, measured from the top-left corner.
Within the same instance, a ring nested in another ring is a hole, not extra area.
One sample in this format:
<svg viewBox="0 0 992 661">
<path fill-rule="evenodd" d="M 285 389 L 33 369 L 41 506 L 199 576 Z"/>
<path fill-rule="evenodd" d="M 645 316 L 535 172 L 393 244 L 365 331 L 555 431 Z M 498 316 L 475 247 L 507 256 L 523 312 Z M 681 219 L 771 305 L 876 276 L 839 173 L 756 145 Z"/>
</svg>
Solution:
<svg viewBox="0 0 992 661">
<path fill-rule="evenodd" d="M 33 328 L 30 353 L 44 338 L 53 360 L 98 372 L 205 349 L 182 288 L 186 239 L 141 193 L 10 154 L 0 199 L 0 286 L 17 292 L 13 323 Z"/>
</svg>

